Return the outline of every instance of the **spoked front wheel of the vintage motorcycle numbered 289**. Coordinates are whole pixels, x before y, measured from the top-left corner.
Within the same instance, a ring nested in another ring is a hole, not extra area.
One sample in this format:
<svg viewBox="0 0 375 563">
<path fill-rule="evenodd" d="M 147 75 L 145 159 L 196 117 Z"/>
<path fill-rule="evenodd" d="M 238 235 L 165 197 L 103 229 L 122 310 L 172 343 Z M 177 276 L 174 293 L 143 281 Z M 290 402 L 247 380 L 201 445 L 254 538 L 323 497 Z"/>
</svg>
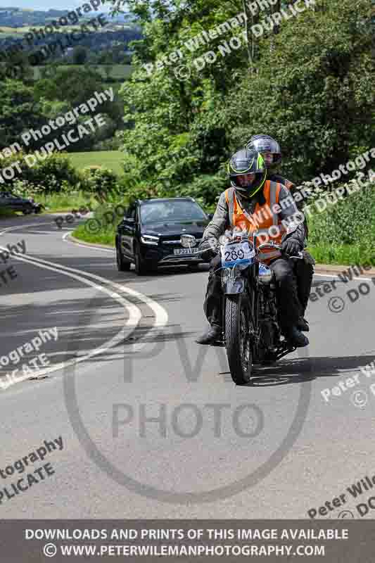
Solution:
<svg viewBox="0 0 375 563">
<path fill-rule="evenodd" d="M 243 297 L 227 296 L 225 339 L 231 379 L 237 385 L 247 384 L 253 372 L 250 327 L 250 315 Z"/>
</svg>

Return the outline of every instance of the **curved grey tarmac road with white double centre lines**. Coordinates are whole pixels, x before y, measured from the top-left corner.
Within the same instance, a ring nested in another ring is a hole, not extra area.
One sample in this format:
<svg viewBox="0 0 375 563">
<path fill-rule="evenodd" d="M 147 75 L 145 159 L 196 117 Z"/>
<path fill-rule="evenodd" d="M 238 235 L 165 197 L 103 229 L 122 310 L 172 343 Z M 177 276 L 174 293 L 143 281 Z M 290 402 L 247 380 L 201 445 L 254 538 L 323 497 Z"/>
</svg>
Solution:
<svg viewBox="0 0 375 563">
<path fill-rule="evenodd" d="M 310 346 L 236 387 L 224 350 L 194 343 L 207 267 L 122 274 L 113 251 L 67 232 L 46 216 L 1 222 L 1 250 L 26 248 L 0 257 L 0 276 L 13 267 L 0 286 L 3 518 L 361 517 L 371 489 L 347 488 L 375 474 L 370 279 L 320 291 Z M 360 283 L 369 293 L 351 303 Z"/>
</svg>

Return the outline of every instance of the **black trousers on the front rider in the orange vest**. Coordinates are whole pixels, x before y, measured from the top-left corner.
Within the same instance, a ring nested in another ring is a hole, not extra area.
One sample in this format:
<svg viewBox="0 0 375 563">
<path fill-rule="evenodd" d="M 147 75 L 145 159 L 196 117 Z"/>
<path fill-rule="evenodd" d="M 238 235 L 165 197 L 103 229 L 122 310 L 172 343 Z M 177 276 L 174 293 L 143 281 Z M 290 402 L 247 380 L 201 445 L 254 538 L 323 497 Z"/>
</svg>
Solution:
<svg viewBox="0 0 375 563">
<path fill-rule="evenodd" d="M 302 260 L 300 260 L 302 262 Z M 222 326 L 222 281 L 220 277 L 220 255 L 212 258 L 210 263 L 210 274 L 208 277 L 207 291 L 203 309 L 208 322 Z M 277 305 L 280 313 L 282 329 L 288 329 L 298 322 L 302 314 L 293 260 L 277 258 L 269 267 L 273 270 L 276 280 Z M 310 294 L 310 291 L 309 291 Z"/>
</svg>

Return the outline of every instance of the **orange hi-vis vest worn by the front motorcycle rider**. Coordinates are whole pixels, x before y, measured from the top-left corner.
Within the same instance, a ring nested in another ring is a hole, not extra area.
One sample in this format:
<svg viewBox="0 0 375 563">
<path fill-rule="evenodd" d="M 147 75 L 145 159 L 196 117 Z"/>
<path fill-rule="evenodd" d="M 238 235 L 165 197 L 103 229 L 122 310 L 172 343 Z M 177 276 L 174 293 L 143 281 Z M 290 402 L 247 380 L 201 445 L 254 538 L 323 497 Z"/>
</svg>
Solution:
<svg viewBox="0 0 375 563">
<path fill-rule="evenodd" d="M 231 227 L 239 227 L 241 230 L 246 230 L 249 235 L 257 231 L 258 234 L 262 235 L 257 239 L 257 246 L 268 241 L 281 244 L 281 238 L 286 233 L 286 228 L 282 224 L 278 213 L 275 213 L 275 206 L 279 205 L 280 190 L 281 184 L 266 180 L 263 187 L 265 203 L 263 205 L 257 203 L 253 214 L 249 215 L 241 209 L 234 188 L 227 189 L 225 191 L 225 199 L 229 209 Z M 259 253 L 259 258 L 262 262 L 268 262 L 272 258 L 278 258 L 279 256 L 281 256 L 281 252 L 273 248 L 264 248 Z"/>
</svg>

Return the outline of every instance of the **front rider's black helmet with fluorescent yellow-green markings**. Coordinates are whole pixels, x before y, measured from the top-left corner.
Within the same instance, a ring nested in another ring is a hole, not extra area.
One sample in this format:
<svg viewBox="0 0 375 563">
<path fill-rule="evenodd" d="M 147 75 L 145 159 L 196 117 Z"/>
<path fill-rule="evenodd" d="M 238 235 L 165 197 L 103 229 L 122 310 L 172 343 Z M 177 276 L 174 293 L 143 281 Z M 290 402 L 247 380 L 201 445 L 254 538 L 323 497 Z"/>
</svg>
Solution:
<svg viewBox="0 0 375 563">
<path fill-rule="evenodd" d="M 234 153 L 228 163 L 228 173 L 231 185 L 246 198 L 252 198 L 261 189 L 267 178 L 265 161 L 260 153 L 248 148 L 241 148 L 241 151 Z M 255 174 L 253 181 L 244 184 L 239 181 L 239 177 Z"/>
</svg>

